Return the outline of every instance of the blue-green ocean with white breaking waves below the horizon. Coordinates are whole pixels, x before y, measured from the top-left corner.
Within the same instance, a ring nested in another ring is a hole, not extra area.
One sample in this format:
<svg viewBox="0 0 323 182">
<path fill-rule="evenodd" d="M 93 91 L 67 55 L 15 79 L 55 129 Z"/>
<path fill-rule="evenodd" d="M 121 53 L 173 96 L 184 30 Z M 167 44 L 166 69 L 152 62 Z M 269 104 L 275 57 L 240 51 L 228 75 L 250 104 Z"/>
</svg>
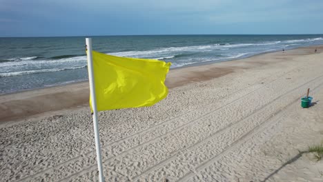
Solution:
<svg viewBox="0 0 323 182">
<path fill-rule="evenodd" d="M 85 37 L 0 38 L 0 94 L 87 80 L 84 44 Z M 323 34 L 105 36 L 92 37 L 92 44 L 106 54 L 178 68 L 323 45 Z"/>
</svg>

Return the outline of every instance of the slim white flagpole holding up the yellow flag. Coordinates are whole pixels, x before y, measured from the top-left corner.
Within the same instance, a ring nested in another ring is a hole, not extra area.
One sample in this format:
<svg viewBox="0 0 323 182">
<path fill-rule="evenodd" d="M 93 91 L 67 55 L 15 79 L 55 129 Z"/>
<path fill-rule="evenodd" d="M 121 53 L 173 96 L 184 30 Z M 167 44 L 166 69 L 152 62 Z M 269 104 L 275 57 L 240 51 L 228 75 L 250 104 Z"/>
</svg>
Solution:
<svg viewBox="0 0 323 182">
<path fill-rule="evenodd" d="M 86 38 L 86 48 L 88 49 L 88 81 L 90 82 L 90 97 L 92 101 L 92 110 L 93 110 L 95 148 L 97 149 L 97 169 L 99 170 L 99 181 L 104 182 L 104 175 L 102 173 L 103 168 L 102 168 L 102 159 L 101 159 L 99 123 L 97 122 L 97 100 L 95 99 L 95 83 L 93 80 L 92 39 L 91 38 Z"/>
</svg>

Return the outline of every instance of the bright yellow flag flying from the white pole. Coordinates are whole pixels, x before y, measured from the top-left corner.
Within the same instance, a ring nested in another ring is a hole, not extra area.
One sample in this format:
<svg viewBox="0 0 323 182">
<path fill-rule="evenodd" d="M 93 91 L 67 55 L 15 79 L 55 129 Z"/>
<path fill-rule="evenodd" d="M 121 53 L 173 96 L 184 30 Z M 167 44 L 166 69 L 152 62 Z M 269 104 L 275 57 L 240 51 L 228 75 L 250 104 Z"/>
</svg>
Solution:
<svg viewBox="0 0 323 182">
<path fill-rule="evenodd" d="M 98 111 L 150 106 L 168 94 L 164 82 L 171 63 L 95 51 L 92 60 Z"/>
</svg>

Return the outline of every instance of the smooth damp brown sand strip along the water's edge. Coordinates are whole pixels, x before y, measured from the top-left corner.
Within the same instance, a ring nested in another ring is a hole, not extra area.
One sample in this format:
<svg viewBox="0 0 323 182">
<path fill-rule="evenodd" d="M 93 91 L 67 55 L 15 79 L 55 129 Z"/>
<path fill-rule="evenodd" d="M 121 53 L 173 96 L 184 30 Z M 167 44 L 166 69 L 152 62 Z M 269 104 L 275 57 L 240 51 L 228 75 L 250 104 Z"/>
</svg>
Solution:
<svg viewBox="0 0 323 182">
<path fill-rule="evenodd" d="M 313 48 L 322 50 L 323 45 L 295 48 L 285 50 L 285 52 L 264 52 L 244 59 L 173 68 L 168 72 L 165 83 L 169 89 L 173 89 L 193 82 L 207 81 L 231 74 L 237 70 L 266 64 L 258 61 L 259 57 L 275 57 L 280 54 L 285 56 L 306 55 L 314 53 Z M 88 95 L 88 81 L 1 94 L 0 123 L 26 120 L 43 112 L 55 112 L 85 106 L 88 104 Z"/>
</svg>

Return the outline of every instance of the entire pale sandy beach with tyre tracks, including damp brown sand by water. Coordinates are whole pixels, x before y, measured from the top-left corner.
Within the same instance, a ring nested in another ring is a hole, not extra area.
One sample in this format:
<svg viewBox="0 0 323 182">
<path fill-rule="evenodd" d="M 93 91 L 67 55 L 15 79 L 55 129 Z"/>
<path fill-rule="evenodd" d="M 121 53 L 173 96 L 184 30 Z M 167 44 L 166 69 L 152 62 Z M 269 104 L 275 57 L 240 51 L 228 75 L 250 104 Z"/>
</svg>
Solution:
<svg viewBox="0 0 323 182">
<path fill-rule="evenodd" d="M 315 48 L 170 70 L 153 107 L 99 112 L 106 181 L 323 181 L 307 152 L 323 142 Z M 88 82 L 0 95 L 0 181 L 98 181 L 88 95 Z"/>
</svg>

